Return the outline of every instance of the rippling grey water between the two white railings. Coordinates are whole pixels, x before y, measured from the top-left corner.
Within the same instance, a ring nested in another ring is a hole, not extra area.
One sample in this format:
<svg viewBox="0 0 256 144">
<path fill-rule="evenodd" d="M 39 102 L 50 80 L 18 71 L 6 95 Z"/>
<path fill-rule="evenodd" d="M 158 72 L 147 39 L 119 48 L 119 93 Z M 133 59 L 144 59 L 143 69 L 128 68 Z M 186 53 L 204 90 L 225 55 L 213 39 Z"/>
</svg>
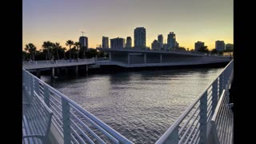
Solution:
<svg viewBox="0 0 256 144">
<path fill-rule="evenodd" d="M 93 74 L 50 85 L 130 141 L 154 143 L 222 69 Z"/>
</svg>

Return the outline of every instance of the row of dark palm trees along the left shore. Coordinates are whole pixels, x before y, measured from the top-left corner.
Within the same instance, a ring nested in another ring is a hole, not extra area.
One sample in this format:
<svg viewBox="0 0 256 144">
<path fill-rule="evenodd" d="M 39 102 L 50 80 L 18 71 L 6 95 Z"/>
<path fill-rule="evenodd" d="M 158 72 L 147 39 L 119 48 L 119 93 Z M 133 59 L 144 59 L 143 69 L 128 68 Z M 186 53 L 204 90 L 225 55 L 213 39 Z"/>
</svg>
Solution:
<svg viewBox="0 0 256 144">
<path fill-rule="evenodd" d="M 86 46 L 82 46 L 80 42 L 74 42 L 72 40 L 67 40 L 66 41 L 66 46 L 70 47 L 70 50 L 68 50 L 67 52 L 70 53 L 70 59 L 71 59 L 71 52 L 73 51 L 73 53 L 76 53 L 77 58 L 79 58 L 79 52 L 80 50 L 82 50 L 83 52 L 83 58 L 86 58 Z M 73 48 L 71 48 L 73 46 Z M 41 50 L 36 50 L 36 46 L 34 46 L 33 43 L 29 43 L 26 45 L 25 50 L 26 52 L 28 52 L 30 54 L 30 59 L 34 60 L 34 56 L 35 54 L 40 54 L 43 53 L 46 55 L 46 60 L 50 60 L 52 58 L 56 58 L 54 57 L 57 56 L 57 59 L 60 58 L 60 53 L 63 54 L 63 58 L 66 59 L 66 47 L 62 47 L 60 46 L 60 43 L 58 42 L 50 42 L 50 41 L 46 41 L 42 43 L 42 49 Z"/>
</svg>

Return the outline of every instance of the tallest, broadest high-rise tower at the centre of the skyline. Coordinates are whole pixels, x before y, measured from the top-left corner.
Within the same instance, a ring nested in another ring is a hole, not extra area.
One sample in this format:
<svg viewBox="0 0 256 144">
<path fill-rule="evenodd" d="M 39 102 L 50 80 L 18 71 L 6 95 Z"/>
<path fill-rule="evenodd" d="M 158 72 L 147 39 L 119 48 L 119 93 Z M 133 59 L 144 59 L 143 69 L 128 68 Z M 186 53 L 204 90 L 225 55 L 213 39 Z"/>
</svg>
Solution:
<svg viewBox="0 0 256 144">
<path fill-rule="evenodd" d="M 134 47 L 146 48 L 146 29 L 144 27 L 134 29 Z"/>
</svg>

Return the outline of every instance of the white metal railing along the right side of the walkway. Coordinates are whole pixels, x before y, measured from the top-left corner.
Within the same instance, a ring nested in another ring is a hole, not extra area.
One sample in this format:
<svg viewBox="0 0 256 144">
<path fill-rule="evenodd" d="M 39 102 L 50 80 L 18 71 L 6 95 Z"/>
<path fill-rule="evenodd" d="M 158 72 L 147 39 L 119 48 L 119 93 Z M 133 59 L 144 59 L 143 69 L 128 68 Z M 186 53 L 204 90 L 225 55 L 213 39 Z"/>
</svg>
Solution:
<svg viewBox="0 0 256 144">
<path fill-rule="evenodd" d="M 206 143 L 207 123 L 210 122 L 222 90 L 229 92 L 230 82 L 233 79 L 232 60 L 218 74 L 217 78 L 202 91 L 198 98 L 183 112 L 176 122 L 156 142 L 162 143 Z M 221 119 L 220 121 L 223 121 Z"/>
</svg>

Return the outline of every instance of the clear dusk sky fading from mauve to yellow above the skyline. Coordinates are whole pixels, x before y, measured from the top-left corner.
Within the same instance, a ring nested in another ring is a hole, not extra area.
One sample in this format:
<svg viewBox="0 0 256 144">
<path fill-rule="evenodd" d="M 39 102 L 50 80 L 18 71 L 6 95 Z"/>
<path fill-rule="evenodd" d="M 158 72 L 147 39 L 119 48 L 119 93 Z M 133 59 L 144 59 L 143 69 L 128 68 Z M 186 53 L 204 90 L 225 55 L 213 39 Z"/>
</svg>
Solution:
<svg viewBox="0 0 256 144">
<path fill-rule="evenodd" d="M 217 40 L 233 43 L 233 10 L 233 0 L 23 0 L 22 49 L 42 49 L 45 41 L 67 48 L 82 31 L 90 48 L 102 45 L 102 36 L 130 36 L 134 46 L 134 29 L 145 27 L 146 46 L 174 32 L 179 46 L 191 50 L 201 41 L 211 50 Z"/>
</svg>

